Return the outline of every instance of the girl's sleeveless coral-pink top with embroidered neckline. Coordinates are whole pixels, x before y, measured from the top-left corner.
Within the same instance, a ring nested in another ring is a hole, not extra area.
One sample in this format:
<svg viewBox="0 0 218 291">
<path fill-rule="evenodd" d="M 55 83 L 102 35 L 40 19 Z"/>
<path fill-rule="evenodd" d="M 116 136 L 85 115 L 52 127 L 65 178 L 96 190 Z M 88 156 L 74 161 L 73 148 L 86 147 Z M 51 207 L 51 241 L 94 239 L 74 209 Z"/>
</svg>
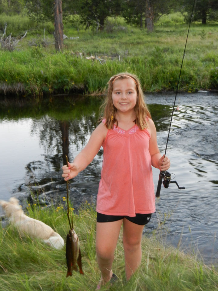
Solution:
<svg viewBox="0 0 218 291">
<path fill-rule="evenodd" d="M 149 139 L 147 129 L 140 130 L 137 125 L 129 130 L 114 125 L 107 131 L 97 212 L 127 216 L 155 212 Z"/>
</svg>

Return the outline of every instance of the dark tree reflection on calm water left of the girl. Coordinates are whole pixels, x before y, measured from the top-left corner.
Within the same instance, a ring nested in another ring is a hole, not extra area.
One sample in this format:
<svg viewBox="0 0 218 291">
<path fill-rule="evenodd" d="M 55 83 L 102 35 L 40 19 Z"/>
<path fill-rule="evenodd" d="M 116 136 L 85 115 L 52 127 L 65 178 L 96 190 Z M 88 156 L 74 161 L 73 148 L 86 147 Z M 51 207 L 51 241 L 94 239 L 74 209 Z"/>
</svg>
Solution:
<svg viewBox="0 0 218 291">
<path fill-rule="evenodd" d="M 61 178 L 62 165 L 66 164 L 65 155 L 69 157 L 69 161 L 72 161 L 76 153 L 85 146 L 97 125 L 100 104 L 100 98 L 92 97 L 90 99 L 81 98 L 81 96 L 79 99 L 65 97 L 63 100 L 59 98 L 59 100 L 53 100 L 52 106 L 49 104 L 48 112 L 45 112 L 40 118 L 32 120 L 31 133 L 37 133 L 40 146 L 43 147 L 45 154 L 43 160 L 32 161 L 27 165 L 28 183 L 19 187 L 22 192 L 28 190 L 30 202 L 37 197 L 41 203 L 48 203 L 51 200 L 57 203 L 62 200 L 63 196 L 66 196 L 66 184 Z M 101 154 L 102 151 L 98 157 L 101 157 Z M 79 198 L 76 204 L 79 205 L 81 199 L 84 200 L 81 191 L 96 176 L 94 168 L 100 162 L 97 159 L 78 178 L 71 181 L 70 192 L 73 190 L 74 196 Z M 97 175 L 99 176 L 99 172 Z M 95 180 L 97 181 L 97 179 Z M 78 189 L 75 189 L 75 185 L 78 186 Z M 96 186 L 91 192 L 96 192 Z"/>
</svg>

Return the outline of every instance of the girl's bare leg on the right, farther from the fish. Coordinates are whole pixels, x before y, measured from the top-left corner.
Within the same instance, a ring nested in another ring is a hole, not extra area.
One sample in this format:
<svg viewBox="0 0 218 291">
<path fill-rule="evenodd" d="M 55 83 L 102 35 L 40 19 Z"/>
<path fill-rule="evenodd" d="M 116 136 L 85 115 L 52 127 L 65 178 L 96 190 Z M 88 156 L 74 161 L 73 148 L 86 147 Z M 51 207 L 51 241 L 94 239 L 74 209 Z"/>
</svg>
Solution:
<svg viewBox="0 0 218 291">
<path fill-rule="evenodd" d="M 123 245 L 127 281 L 141 263 L 141 239 L 144 225 L 138 225 L 124 218 Z"/>
</svg>

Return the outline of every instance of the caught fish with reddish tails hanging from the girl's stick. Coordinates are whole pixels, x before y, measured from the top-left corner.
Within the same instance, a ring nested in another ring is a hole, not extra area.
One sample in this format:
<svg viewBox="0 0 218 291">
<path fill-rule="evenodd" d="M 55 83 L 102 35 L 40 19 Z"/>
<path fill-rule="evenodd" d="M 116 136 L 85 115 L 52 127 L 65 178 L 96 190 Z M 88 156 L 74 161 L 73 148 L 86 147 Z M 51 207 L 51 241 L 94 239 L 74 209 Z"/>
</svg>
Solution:
<svg viewBox="0 0 218 291">
<path fill-rule="evenodd" d="M 80 243 L 74 229 L 70 230 L 69 234 L 67 234 L 66 259 L 67 259 L 67 267 L 68 267 L 67 277 L 72 276 L 72 270 L 77 271 L 77 265 L 79 266 L 80 274 L 84 275 L 83 270 L 82 270 Z"/>
</svg>

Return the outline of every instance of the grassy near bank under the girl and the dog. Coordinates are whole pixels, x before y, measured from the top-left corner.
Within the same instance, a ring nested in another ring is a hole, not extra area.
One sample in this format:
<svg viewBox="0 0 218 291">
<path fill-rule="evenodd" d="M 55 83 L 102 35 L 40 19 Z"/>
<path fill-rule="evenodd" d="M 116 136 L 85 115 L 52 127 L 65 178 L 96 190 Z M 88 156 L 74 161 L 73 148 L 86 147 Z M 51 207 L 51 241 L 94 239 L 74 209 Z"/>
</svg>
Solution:
<svg viewBox="0 0 218 291">
<path fill-rule="evenodd" d="M 63 202 L 65 203 L 65 202 Z M 65 205 L 53 208 L 27 206 L 28 215 L 50 225 L 65 239 L 69 226 Z M 20 238 L 7 226 L 0 229 L 0 289 L 2 291 L 95 290 L 100 273 L 95 255 L 95 220 L 93 206 L 86 204 L 73 215 L 74 227 L 81 241 L 84 276 L 73 272 L 66 278 L 65 249 L 54 250 L 29 237 Z M 113 271 L 119 280 L 111 290 L 214 291 L 217 271 L 192 256 L 166 247 L 146 236 L 142 242 L 143 259 L 136 274 L 127 283 L 124 272 L 122 239 L 118 240 Z M 106 290 L 105 288 L 102 290 Z"/>
</svg>

